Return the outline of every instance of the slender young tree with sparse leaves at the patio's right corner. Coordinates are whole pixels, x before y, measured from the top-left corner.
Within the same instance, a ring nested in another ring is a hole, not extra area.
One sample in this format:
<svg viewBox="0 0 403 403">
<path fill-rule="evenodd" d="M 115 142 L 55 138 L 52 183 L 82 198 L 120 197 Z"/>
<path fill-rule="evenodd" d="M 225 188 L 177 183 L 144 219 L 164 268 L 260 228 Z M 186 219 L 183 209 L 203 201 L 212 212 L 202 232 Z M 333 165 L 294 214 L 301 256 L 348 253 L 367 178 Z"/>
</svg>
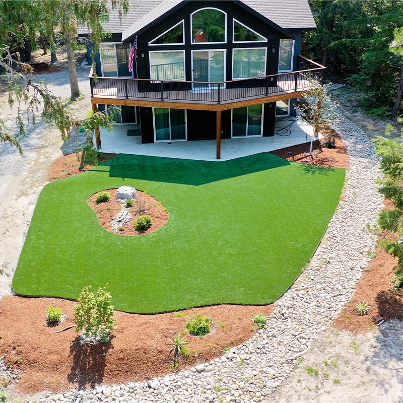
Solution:
<svg viewBox="0 0 403 403">
<path fill-rule="evenodd" d="M 310 154 L 312 154 L 313 141 L 317 137 L 319 127 L 330 125 L 338 116 L 337 104 L 331 101 L 328 94 L 329 86 L 330 84 L 320 85 L 315 83 L 312 88 L 302 93 L 306 102 L 295 106 L 297 114 L 313 127 Z"/>
</svg>

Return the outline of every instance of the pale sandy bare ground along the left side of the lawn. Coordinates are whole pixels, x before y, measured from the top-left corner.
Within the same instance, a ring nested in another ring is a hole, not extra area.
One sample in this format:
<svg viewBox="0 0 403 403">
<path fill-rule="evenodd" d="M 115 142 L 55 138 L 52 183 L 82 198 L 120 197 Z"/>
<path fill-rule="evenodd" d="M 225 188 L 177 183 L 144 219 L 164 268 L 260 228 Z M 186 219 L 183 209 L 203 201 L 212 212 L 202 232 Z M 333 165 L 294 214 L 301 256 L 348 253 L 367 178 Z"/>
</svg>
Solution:
<svg viewBox="0 0 403 403">
<path fill-rule="evenodd" d="M 80 89 L 85 94 L 83 99 L 70 104 L 77 116 L 84 116 L 90 109 L 88 74 L 88 68 L 77 68 Z M 62 99 L 69 97 L 67 70 L 37 75 L 35 78 L 44 80 L 48 88 Z M 0 113 L 3 118 L 7 118 L 8 126 L 15 132 L 17 108 L 9 107 L 5 93 L 0 95 Z M 0 265 L 3 265 L 5 271 L 0 278 L 0 297 L 10 293 L 12 275 L 36 199 L 48 181 L 48 171 L 58 157 L 73 152 L 77 138 L 74 137 L 72 141 L 63 144 L 59 132 L 54 127 L 45 123 L 32 127 L 27 123 L 27 136 L 21 143 L 24 157 L 8 144 L 0 144 Z"/>
</svg>

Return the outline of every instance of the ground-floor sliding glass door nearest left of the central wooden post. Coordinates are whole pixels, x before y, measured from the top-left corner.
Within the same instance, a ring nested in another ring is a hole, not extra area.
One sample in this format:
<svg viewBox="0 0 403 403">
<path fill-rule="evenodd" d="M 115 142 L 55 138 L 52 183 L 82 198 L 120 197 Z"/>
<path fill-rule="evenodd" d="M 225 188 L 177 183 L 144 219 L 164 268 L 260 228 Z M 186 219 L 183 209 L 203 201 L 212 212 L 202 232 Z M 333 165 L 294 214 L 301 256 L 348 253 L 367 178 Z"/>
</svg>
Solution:
<svg viewBox="0 0 403 403">
<path fill-rule="evenodd" d="M 186 140 L 186 110 L 153 108 L 156 142 Z"/>
</svg>

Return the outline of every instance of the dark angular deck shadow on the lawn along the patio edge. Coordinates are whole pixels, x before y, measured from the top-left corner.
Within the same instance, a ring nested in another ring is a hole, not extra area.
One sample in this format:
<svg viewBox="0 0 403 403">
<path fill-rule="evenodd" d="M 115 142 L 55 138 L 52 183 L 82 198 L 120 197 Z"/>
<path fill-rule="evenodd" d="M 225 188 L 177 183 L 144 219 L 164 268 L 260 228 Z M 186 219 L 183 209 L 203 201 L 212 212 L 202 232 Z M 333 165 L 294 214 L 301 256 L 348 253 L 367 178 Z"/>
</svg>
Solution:
<svg viewBox="0 0 403 403">
<path fill-rule="evenodd" d="M 119 154 L 93 170 L 107 171 L 109 168 L 110 177 L 122 179 L 200 186 L 291 164 L 290 161 L 270 153 L 260 153 L 222 162 Z M 301 167 L 301 169 L 307 169 L 307 173 L 311 174 L 325 174 L 329 171 L 329 168 L 322 167 Z"/>
</svg>

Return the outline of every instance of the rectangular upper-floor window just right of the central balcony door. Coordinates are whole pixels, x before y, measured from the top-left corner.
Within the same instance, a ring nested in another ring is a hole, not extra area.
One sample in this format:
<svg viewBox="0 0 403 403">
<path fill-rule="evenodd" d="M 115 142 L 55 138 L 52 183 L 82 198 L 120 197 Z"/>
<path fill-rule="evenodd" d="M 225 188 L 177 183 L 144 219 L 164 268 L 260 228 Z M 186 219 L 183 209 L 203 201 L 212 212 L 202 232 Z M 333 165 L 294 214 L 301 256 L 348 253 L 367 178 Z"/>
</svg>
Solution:
<svg viewBox="0 0 403 403">
<path fill-rule="evenodd" d="M 266 49 L 234 49 L 232 78 L 262 77 L 266 71 Z"/>
</svg>

